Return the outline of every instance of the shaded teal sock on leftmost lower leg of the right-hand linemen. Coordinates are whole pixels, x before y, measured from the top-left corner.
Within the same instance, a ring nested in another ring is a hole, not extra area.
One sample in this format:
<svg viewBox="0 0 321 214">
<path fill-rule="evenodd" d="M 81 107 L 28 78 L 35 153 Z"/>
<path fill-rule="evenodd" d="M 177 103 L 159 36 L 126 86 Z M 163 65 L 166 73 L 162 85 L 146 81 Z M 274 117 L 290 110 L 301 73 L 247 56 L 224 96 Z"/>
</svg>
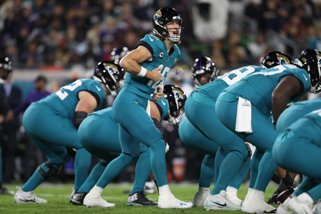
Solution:
<svg viewBox="0 0 321 214">
<path fill-rule="evenodd" d="M 215 156 L 205 155 L 201 166 L 199 186 L 210 187 L 214 177 L 214 172 L 215 172 L 214 164 L 215 164 Z"/>
</svg>

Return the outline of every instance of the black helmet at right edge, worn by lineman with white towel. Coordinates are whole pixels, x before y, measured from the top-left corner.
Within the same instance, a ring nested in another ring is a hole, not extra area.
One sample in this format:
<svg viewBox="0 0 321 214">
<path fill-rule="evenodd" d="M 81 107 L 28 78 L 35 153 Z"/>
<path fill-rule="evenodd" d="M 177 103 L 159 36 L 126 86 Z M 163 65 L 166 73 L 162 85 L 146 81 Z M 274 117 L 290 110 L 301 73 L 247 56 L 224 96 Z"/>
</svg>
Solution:
<svg viewBox="0 0 321 214">
<path fill-rule="evenodd" d="M 296 58 L 293 64 L 303 68 L 308 72 L 311 85 L 310 93 L 319 93 L 321 91 L 320 87 L 320 62 L 321 62 L 321 52 L 316 49 L 304 49 L 298 58 Z"/>
</svg>

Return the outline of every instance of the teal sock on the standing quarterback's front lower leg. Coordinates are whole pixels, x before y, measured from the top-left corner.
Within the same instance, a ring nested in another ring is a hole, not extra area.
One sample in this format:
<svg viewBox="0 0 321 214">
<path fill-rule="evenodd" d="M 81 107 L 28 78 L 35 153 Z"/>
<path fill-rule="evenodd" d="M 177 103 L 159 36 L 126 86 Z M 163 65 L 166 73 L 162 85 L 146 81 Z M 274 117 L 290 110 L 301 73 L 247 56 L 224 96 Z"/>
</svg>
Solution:
<svg viewBox="0 0 321 214">
<path fill-rule="evenodd" d="M 165 143 L 162 139 L 148 146 L 151 155 L 151 167 L 155 175 L 157 185 L 164 186 L 167 183 L 167 168 L 165 161 Z"/>
</svg>

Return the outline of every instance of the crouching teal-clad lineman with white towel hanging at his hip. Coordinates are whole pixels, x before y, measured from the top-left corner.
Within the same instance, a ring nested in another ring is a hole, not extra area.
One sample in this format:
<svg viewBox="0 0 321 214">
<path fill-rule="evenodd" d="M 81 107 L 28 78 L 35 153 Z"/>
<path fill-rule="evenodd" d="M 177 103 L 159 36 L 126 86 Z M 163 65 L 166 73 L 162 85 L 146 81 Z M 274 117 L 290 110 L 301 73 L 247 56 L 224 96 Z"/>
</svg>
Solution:
<svg viewBox="0 0 321 214">
<path fill-rule="evenodd" d="M 256 146 L 251 162 L 251 181 L 255 181 L 242 204 L 248 213 L 271 212 L 274 207 L 264 201 L 264 192 L 277 164 L 272 158 L 272 148 L 277 137 L 275 126 L 269 120 L 272 111 L 275 123 L 287 103 L 295 102 L 306 92 L 316 91 L 320 74 L 317 69 L 319 51 L 305 49 L 293 65 L 277 65 L 256 72 L 227 87 L 217 98 L 215 112 L 219 120 L 243 140 Z M 321 58 L 321 57 L 319 57 Z M 234 145 L 235 151 L 245 155 Z M 233 163 L 241 163 L 235 157 Z M 252 173 L 258 169 L 257 174 Z"/>
</svg>

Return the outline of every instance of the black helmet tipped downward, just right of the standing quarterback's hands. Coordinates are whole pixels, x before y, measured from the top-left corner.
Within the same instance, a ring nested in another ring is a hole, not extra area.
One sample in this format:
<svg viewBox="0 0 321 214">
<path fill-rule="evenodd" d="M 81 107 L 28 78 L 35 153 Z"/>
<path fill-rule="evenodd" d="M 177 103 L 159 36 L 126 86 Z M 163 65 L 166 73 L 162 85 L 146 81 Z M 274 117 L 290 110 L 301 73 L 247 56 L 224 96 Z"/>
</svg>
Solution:
<svg viewBox="0 0 321 214">
<path fill-rule="evenodd" d="M 165 85 L 163 93 L 169 103 L 168 122 L 178 125 L 184 117 L 184 105 L 187 97 L 184 91 L 175 85 Z"/>
</svg>

